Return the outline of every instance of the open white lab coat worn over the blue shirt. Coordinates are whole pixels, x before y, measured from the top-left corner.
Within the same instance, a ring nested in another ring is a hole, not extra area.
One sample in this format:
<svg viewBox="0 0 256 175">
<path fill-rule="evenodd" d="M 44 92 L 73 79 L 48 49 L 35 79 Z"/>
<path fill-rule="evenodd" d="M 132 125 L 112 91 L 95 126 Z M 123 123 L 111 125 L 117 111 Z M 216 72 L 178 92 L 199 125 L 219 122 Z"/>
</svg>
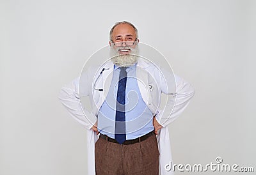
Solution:
<svg viewBox="0 0 256 175">
<path fill-rule="evenodd" d="M 103 68 L 104 71 L 102 71 Z M 113 63 L 109 61 L 97 71 L 88 70 L 88 72 L 82 73 L 81 77 L 78 77 L 69 84 L 63 86 L 59 96 L 61 102 L 67 108 L 70 115 L 88 129 L 87 145 L 89 175 L 95 174 L 94 146 L 95 142 L 99 138 L 99 135 L 96 135 L 96 133 L 93 132 L 93 130 L 90 130 L 90 128 L 92 128 L 93 124 L 97 121 L 96 116 L 99 112 L 100 106 L 104 102 L 106 94 L 109 91 L 111 77 L 113 75 L 113 68 Z M 95 72 L 96 75 L 94 77 Z M 172 73 L 164 73 L 164 76 L 168 77 L 170 75 L 172 75 Z M 173 174 L 172 171 L 166 171 L 164 169 L 164 165 L 169 164 L 169 162 L 172 161 L 169 132 L 166 126 L 174 121 L 186 108 L 189 100 L 195 94 L 195 89 L 193 89 L 188 82 L 177 75 L 175 75 L 175 79 L 172 79 L 172 77 L 164 79 L 163 74 L 159 72 L 159 69 L 156 68 L 156 66 L 141 59 L 138 60 L 136 66 L 136 76 L 143 101 L 152 111 L 152 114 L 156 114 L 158 123 L 163 126 L 157 135 L 160 153 L 159 174 Z M 95 81 L 95 79 L 97 80 Z M 93 84 L 93 87 L 88 86 L 91 84 Z M 150 86 L 145 86 L 145 84 Z M 82 86 L 83 89 L 81 88 Z M 152 88 L 152 86 L 155 88 Z M 173 86 L 175 89 L 174 92 L 170 91 L 170 89 L 173 90 Z M 103 89 L 103 91 L 95 89 Z M 167 107 L 164 110 L 160 110 L 157 107 L 159 106 L 158 103 L 162 92 L 169 96 L 175 97 L 168 98 Z M 80 96 L 90 97 L 92 111 L 88 111 L 82 107 Z M 168 107 L 168 105 L 171 107 Z M 174 107 L 172 107 L 172 105 Z"/>
</svg>

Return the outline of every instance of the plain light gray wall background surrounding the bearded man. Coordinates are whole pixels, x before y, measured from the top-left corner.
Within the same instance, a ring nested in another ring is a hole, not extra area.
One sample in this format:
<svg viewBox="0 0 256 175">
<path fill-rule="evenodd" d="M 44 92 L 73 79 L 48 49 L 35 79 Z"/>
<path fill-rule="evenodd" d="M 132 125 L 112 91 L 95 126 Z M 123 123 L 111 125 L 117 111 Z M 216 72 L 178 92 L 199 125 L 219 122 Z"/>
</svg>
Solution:
<svg viewBox="0 0 256 175">
<path fill-rule="evenodd" d="M 256 1 L 1 0 L 0 20 L 1 175 L 86 174 L 86 130 L 58 94 L 120 20 L 196 89 L 169 126 L 174 163 L 256 171 Z"/>
</svg>

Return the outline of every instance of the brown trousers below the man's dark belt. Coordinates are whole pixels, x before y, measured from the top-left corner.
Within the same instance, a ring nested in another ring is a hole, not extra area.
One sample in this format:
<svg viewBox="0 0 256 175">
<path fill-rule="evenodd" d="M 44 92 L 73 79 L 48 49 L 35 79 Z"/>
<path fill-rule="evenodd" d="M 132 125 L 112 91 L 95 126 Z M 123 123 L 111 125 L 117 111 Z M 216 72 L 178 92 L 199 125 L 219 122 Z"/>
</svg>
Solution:
<svg viewBox="0 0 256 175">
<path fill-rule="evenodd" d="M 116 144 L 102 138 L 95 143 L 97 175 L 158 175 L 156 135 L 135 144 Z"/>
</svg>

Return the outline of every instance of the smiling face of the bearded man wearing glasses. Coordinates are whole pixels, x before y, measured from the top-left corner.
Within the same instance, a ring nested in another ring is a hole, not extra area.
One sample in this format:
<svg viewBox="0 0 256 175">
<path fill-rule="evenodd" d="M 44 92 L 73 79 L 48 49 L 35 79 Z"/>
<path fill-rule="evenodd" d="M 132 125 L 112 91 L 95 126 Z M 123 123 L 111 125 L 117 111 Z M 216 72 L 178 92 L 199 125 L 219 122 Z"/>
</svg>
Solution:
<svg viewBox="0 0 256 175">
<path fill-rule="evenodd" d="M 119 54 L 132 54 L 131 49 L 135 49 L 137 43 L 136 33 L 132 26 L 129 24 L 120 24 L 116 26 L 112 33 L 113 49 L 118 51 Z M 109 42 L 110 43 L 110 42 Z"/>
</svg>

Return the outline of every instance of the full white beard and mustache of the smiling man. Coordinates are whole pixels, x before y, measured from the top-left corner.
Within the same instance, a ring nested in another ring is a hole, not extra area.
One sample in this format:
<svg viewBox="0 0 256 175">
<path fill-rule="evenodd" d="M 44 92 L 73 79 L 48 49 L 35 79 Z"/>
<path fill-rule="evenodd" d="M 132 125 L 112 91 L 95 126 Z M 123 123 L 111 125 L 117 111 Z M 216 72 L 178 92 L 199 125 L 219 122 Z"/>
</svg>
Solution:
<svg viewBox="0 0 256 175">
<path fill-rule="evenodd" d="M 131 54 L 121 55 L 118 53 L 119 49 L 131 49 Z M 138 46 L 136 46 L 135 49 L 132 49 L 131 47 L 118 47 L 116 49 L 113 49 L 113 47 L 111 47 L 110 50 L 111 61 L 116 66 L 120 67 L 127 67 L 136 64 L 138 62 L 138 54 Z"/>
</svg>

